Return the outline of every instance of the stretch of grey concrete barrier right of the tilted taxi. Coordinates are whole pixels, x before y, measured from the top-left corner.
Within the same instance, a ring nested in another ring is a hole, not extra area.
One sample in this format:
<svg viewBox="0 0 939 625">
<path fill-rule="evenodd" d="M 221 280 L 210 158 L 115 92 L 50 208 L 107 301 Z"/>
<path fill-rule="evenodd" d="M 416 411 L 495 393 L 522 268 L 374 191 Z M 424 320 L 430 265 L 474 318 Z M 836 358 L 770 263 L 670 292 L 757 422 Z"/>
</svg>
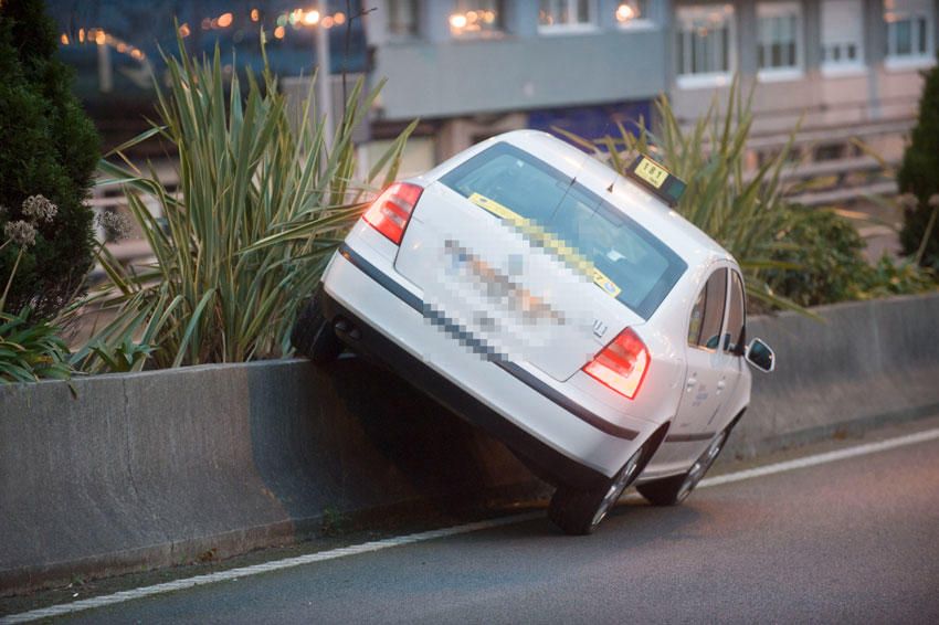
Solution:
<svg viewBox="0 0 939 625">
<path fill-rule="evenodd" d="M 939 295 L 824 306 L 820 324 L 785 312 L 747 327 L 777 353 L 753 372 L 750 409 L 726 451 L 750 457 L 939 414 Z"/>
</svg>

